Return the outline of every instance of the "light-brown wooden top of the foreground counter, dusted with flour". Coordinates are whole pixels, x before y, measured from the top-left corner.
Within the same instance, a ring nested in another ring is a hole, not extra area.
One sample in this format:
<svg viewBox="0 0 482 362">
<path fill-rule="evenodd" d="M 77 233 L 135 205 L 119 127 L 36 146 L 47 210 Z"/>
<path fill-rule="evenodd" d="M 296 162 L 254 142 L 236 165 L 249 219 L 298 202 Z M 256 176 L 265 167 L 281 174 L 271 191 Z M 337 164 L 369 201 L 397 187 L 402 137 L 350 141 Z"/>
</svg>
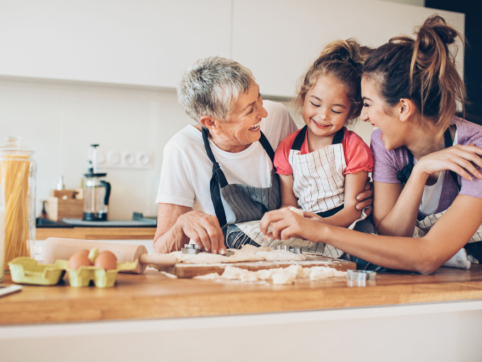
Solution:
<svg viewBox="0 0 482 362">
<path fill-rule="evenodd" d="M 40 287 L 0 297 L 0 324 L 155 319 L 482 299 L 482 265 L 433 275 L 378 274 L 376 285 L 347 280 L 294 285 L 167 278 L 157 270 L 119 274 L 115 287 Z M 10 284 L 6 274 L 4 283 Z"/>
</svg>

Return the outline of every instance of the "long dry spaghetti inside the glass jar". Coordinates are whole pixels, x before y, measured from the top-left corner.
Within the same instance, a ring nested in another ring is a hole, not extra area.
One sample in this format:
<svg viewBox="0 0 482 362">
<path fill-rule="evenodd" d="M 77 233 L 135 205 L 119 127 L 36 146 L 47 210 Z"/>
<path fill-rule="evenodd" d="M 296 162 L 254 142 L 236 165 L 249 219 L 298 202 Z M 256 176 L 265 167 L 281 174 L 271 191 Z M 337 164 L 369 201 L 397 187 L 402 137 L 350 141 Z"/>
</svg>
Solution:
<svg viewBox="0 0 482 362">
<path fill-rule="evenodd" d="M 18 256 L 30 256 L 28 231 L 28 180 L 26 155 L 6 155 L 0 161 L 0 184 L 5 194 L 5 268 Z"/>
</svg>

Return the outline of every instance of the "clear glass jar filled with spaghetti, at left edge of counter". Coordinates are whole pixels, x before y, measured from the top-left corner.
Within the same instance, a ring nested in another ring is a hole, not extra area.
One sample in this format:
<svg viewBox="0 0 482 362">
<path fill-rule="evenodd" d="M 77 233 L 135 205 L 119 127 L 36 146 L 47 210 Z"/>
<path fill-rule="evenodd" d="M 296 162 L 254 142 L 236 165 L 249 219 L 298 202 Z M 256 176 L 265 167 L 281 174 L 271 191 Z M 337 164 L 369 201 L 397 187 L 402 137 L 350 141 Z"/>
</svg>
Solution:
<svg viewBox="0 0 482 362">
<path fill-rule="evenodd" d="M 35 243 L 35 177 L 33 148 L 20 137 L 7 137 L 0 146 L 0 185 L 5 197 L 5 263 L 18 256 L 33 258 Z"/>
</svg>

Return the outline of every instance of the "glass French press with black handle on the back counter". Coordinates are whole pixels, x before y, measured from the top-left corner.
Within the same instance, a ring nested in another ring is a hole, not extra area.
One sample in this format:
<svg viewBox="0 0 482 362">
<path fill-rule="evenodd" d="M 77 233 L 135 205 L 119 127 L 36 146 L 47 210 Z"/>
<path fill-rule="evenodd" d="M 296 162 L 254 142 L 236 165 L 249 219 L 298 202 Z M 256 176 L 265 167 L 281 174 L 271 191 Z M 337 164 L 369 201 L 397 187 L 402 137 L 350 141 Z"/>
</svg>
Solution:
<svg viewBox="0 0 482 362">
<path fill-rule="evenodd" d="M 84 174 L 84 217 L 85 221 L 106 221 L 108 199 L 111 196 L 111 184 L 103 180 L 106 173 L 97 173 L 97 147 L 91 145 L 92 158 L 89 160 L 89 172 Z"/>
</svg>

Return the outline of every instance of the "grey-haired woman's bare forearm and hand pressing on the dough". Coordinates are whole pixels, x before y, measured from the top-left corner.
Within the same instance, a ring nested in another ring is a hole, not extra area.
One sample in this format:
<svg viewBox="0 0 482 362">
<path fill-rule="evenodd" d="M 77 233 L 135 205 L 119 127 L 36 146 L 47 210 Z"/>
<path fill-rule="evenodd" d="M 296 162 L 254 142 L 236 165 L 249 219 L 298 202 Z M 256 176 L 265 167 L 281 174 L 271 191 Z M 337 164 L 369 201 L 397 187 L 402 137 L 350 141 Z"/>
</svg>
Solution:
<svg viewBox="0 0 482 362">
<path fill-rule="evenodd" d="M 153 241 L 154 251 L 179 251 L 191 238 L 204 251 L 225 253 L 224 235 L 218 218 L 192 211 L 191 207 L 159 204 L 157 230 Z"/>
</svg>

